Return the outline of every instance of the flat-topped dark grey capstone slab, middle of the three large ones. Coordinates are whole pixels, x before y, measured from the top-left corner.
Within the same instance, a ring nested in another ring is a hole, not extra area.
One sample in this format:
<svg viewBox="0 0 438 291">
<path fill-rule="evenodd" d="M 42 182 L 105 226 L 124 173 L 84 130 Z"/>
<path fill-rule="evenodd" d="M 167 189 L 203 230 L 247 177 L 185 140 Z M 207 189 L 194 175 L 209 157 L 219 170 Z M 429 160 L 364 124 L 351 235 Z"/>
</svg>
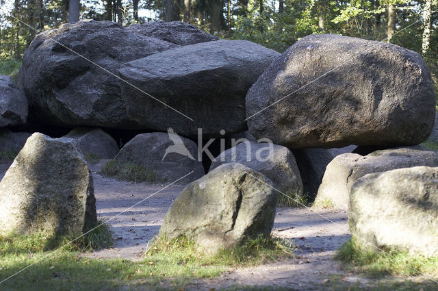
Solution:
<svg viewBox="0 0 438 291">
<path fill-rule="evenodd" d="M 128 62 L 119 69 L 127 114 L 144 127 L 218 137 L 246 130 L 245 96 L 279 53 L 246 40 L 202 42 Z M 170 107 L 169 107 L 170 106 Z"/>
</svg>

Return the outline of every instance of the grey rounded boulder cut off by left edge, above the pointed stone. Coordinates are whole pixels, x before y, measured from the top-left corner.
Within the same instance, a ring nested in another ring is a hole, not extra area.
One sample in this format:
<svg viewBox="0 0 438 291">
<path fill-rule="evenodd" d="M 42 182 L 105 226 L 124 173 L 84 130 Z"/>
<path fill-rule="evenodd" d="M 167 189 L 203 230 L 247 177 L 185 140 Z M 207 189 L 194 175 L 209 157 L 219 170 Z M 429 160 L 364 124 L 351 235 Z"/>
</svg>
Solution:
<svg viewBox="0 0 438 291">
<path fill-rule="evenodd" d="M 27 121 L 27 99 L 14 80 L 0 75 L 0 127 L 22 125 Z"/>
</svg>

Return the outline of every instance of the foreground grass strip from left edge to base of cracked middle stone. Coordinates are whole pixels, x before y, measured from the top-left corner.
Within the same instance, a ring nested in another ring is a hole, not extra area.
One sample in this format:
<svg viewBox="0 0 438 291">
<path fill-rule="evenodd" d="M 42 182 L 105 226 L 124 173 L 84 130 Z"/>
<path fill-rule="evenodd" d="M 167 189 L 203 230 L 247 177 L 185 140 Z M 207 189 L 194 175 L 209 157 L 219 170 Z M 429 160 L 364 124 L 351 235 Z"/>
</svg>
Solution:
<svg viewBox="0 0 438 291">
<path fill-rule="evenodd" d="M 214 256 L 187 239 L 155 240 L 140 262 L 94 260 L 70 248 L 49 255 L 42 248 L 44 238 L 17 241 L 1 244 L 0 281 L 34 265 L 5 281 L 1 286 L 4 290 L 178 290 L 192 279 L 217 277 L 234 266 L 293 256 L 293 246 L 261 237 Z M 164 283 L 170 287 L 164 288 Z"/>
</svg>

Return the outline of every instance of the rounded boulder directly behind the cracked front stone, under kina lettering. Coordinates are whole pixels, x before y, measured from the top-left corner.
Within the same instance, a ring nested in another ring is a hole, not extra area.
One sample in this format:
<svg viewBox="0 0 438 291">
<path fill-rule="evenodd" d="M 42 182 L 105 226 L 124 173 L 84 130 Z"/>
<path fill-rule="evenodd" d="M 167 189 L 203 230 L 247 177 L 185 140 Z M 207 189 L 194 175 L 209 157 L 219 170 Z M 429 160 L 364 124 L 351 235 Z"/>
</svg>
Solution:
<svg viewBox="0 0 438 291">
<path fill-rule="evenodd" d="M 222 164 L 237 162 L 272 181 L 284 194 L 302 196 L 302 180 L 292 151 L 278 144 L 242 142 L 223 151 L 211 162 L 210 172 Z M 279 193 L 279 195 L 282 195 Z"/>
</svg>

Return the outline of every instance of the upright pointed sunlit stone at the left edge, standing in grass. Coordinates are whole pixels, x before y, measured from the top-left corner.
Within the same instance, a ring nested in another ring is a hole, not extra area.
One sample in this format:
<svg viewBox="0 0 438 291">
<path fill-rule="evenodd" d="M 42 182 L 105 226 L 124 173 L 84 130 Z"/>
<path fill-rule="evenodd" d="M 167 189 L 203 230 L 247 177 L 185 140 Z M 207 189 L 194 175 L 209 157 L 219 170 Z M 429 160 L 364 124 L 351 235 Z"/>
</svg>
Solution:
<svg viewBox="0 0 438 291">
<path fill-rule="evenodd" d="M 0 233 L 81 233 L 97 223 L 93 180 L 71 140 L 33 134 L 0 182 Z"/>
</svg>

